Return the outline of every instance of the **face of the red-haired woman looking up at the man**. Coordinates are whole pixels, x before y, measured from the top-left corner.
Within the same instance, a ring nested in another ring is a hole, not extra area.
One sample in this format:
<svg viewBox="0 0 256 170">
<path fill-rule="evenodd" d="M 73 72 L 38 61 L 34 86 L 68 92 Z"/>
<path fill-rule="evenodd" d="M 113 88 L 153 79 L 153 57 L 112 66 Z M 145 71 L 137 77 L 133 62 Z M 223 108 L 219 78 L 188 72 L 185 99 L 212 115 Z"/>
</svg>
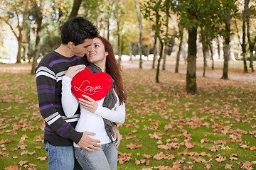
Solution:
<svg viewBox="0 0 256 170">
<path fill-rule="evenodd" d="M 105 46 L 100 38 L 92 40 L 92 46 L 87 48 L 86 57 L 88 62 L 93 64 L 105 64 L 108 52 L 105 52 Z"/>
</svg>

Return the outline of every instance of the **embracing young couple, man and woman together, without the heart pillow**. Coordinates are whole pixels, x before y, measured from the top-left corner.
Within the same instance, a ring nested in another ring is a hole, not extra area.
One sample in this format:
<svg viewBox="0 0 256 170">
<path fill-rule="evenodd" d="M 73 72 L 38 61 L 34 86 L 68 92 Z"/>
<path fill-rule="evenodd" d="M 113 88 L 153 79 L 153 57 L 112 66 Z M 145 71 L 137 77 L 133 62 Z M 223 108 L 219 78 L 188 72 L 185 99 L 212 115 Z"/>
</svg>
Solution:
<svg viewBox="0 0 256 170">
<path fill-rule="evenodd" d="M 36 68 L 48 168 L 117 169 L 121 136 L 115 123 L 124 123 L 126 94 L 112 45 L 82 17 L 64 23 L 61 41 Z M 112 87 L 100 101 L 73 96 L 71 80 L 85 65 L 92 73 L 112 77 Z"/>
</svg>

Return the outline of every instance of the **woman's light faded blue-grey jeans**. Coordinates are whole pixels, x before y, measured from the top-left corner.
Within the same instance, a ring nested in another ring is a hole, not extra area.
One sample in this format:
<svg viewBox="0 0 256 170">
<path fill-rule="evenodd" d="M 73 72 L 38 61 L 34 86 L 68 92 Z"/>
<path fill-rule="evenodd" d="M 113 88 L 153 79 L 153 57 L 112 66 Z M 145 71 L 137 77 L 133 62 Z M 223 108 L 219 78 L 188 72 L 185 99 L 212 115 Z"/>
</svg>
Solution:
<svg viewBox="0 0 256 170">
<path fill-rule="evenodd" d="M 74 147 L 75 158 L 82 169 L 92 170 L 116 170 L 117 169 L 117 148 L 115 142 L 101 145 L 99 150 L 87 151 L 80 147 Z"/>
</svg>

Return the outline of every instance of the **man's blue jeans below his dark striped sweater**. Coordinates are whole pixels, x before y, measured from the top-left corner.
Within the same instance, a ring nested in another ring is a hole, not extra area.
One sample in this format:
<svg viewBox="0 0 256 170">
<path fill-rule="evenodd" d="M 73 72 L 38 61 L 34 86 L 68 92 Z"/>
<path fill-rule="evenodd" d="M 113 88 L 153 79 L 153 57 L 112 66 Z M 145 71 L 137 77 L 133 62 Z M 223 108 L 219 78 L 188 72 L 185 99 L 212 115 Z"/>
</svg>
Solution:
<svg viewBox="0 0 256 170">
<path fill-rule="evenodd" d="M 75 160 L 73 147 L 58 147 L 50 145 L 48 142 L 44 145 L 49 159 L 49 170 L 82 169 Z"/>
</svg>

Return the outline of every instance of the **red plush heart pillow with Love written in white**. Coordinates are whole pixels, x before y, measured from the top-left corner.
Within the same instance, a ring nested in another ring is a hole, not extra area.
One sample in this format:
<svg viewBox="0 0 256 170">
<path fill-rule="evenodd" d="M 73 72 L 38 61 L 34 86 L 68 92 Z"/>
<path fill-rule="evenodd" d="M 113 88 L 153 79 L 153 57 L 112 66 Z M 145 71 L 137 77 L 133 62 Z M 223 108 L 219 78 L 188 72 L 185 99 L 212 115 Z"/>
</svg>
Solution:
<svg viewBox="0 0 256 170">
<path fill-rule="evenodd" d="M 109 74 L 97 72 L 92 74 L 90 69 L 85 68 L 75 75 L 71 81 L 71 90 L 76 98 L 84 98 L 82 94 L 99 101 L 106 96 L 112 86 Z"/>
</svg>

